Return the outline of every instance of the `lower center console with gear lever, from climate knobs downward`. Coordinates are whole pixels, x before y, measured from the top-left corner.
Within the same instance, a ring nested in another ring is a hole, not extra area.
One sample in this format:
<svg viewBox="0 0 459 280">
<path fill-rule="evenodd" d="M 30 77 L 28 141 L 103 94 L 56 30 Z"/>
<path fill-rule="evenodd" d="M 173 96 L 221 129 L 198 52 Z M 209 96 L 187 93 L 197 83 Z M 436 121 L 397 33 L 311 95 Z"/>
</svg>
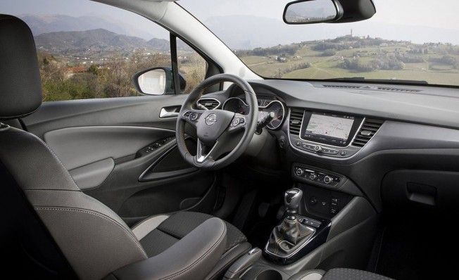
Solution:
<svg viewBox="0 0 459 280">
<path fill-rule="evenodd" d="M 284 193 L 284 215 L 265 246 L 241 257 L 225 279 L 287 280 L 305 269 L 366 265 L 377 222 L 372 205 L 344 175 L 291 168 L 296 183 Z"/>
</svg>

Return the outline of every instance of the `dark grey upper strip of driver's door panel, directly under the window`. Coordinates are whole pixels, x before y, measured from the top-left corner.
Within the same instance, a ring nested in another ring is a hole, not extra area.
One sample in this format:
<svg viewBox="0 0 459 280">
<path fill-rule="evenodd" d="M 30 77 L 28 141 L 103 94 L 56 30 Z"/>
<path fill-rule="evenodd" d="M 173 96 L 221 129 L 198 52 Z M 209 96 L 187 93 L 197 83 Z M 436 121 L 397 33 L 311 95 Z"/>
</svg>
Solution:
<svg viewBox="0 0 459 280">
<path fill-rule="evenodd" d="M 175 117 L 159 117 L 162 108 L 182 106 L 187 95 L 135 96 L 45 102 L 23 118 L 29 132 L 43 138 L 65 127 L 130 125 L 175 130 Z"/>
</svg>

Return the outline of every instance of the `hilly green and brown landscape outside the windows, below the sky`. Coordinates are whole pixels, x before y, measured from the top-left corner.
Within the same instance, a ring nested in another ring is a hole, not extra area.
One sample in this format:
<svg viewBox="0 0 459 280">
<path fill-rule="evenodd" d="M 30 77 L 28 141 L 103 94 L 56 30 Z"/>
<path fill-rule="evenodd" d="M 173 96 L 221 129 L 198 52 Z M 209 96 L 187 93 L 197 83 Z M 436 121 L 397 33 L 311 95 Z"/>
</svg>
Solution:
<svg viewBox="0 0 459 280">
<path fill-rule="evenodd" d="M 44 33 L 35 40 L 45 100 L 49 101 L 137 95 L 131 82 L 136 72 L 170 66 L 165 39 L 146 41 L 98 29 Z M 459 77 L 458 46 L 353 36 L 352 32 L 334 39 L 234 52 L 263 77 L 428 81 L 434 75 L 446 84 Z M 206 62 L 183 42 L 178 53 L 189 90 L 204 76 Z"/>
</svg>

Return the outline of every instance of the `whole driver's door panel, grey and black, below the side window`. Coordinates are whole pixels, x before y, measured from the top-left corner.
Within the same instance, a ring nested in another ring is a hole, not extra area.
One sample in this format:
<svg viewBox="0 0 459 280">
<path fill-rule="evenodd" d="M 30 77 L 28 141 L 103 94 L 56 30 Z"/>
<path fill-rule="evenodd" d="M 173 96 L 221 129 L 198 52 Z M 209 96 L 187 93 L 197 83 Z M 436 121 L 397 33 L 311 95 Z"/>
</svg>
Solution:
<svg viewBox="0 0 459 280">
<path fill-rule="evenodd" d="M 25 128 L 46 141 L 80 188 L 128 224 L 177 210 L 210 212 L 215 174 L 188 165 L 175 144 L 185 95 L 138 96 L 44 103 Z M 187 139 L 194 151 L 193 139 Z"/>
</svg>

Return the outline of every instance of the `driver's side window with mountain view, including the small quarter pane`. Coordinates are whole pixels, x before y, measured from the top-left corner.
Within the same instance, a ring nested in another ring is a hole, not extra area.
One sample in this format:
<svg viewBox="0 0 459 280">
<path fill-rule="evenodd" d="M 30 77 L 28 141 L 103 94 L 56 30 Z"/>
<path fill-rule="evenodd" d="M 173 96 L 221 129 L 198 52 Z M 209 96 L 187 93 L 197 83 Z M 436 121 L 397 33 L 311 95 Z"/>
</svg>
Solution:
<svg viewBox="0 0 459 280">
<path fill-rule="evenodd" d="M 2 13 L 23 19 L 34 35 L 43 101 L 139 96 L 134 75 L 151 68 L 162 70 L 144 75 L 151 89 L 144 92 L 175 93 L 170 34 L 151 20 L 92 1 L 58 1 L 49 14 L 32 0 L 8 1 L 0 3 Z M 16 6 L 27 11 L 13 11 Z M 207 63 L 180 39 L 177 63 L 180 92 L 189 93 L 204 79 Z"/>
</svg>

